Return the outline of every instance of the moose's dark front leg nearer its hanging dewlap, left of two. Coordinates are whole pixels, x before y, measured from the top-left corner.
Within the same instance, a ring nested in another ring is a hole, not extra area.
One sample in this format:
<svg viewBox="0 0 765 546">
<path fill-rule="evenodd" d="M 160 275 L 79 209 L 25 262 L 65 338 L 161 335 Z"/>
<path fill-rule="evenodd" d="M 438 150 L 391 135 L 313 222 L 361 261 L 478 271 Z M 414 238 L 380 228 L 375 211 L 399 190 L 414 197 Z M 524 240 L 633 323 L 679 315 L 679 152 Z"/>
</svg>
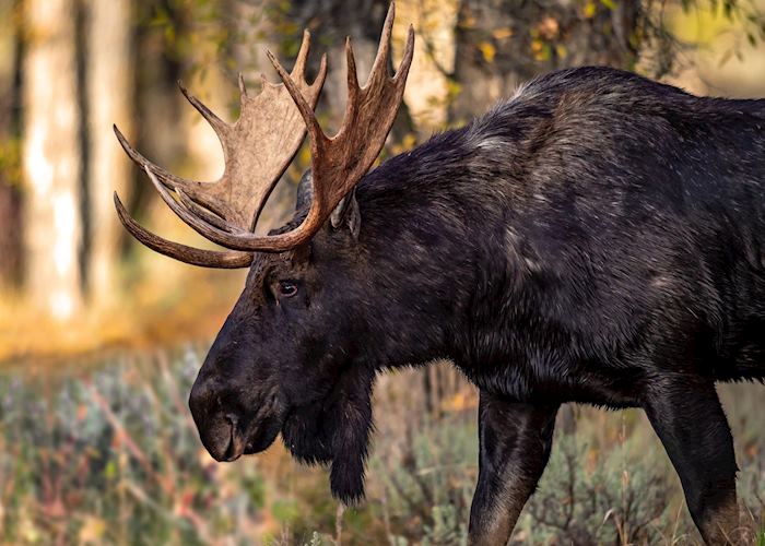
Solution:
<svg viewBox="0 0 765 546">
<path fill-rule="evenodd" d="M 509 402 L 481 391 L 472 546 L 504 545 L 509 539 L 550 459 L 557 408 Z"/>
</svg>

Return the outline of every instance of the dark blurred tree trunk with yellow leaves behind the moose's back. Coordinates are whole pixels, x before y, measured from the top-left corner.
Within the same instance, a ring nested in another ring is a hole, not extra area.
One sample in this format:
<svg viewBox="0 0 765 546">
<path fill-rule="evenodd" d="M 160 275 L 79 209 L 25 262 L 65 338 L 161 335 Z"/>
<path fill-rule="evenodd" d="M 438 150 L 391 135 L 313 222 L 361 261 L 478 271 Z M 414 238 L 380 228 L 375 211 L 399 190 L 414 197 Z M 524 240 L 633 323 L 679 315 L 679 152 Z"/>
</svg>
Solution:
<svg viewBox="0 0 765 546">
<path fill-rule="evenodd" d="M 584 64 L 628 68 L 635 61 L 639 2 L 461 0 L 450 118 L 486 111 L 533 76 Z"/>
</svg>

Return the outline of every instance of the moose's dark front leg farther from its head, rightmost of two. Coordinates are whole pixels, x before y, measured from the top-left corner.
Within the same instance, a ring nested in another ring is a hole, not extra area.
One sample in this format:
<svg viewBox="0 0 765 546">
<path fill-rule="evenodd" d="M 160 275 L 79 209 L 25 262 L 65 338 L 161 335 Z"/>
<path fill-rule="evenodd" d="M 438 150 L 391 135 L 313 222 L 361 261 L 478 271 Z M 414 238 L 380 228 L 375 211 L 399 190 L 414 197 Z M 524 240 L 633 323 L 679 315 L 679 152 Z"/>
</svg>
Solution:
<svg viewBox="0 0 765 546">
<path fill-rule="evenodd" d="M 678 377 L 652 384 L 644 408 L 685 491 L 693 521 L 709 545 L 735 544 L 735 455 L 711 381 Z"/>
</svg>

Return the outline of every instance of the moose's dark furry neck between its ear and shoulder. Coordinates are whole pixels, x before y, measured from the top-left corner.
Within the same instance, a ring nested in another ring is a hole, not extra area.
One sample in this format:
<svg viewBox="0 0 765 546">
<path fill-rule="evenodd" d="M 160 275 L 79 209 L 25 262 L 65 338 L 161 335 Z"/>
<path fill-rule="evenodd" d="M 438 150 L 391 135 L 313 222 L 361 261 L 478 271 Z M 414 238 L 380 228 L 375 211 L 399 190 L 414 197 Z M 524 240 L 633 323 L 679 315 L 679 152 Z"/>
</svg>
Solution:
<svg viewBox="0 0 765 546">
<path fill-rule="evenodd" d="M 388 298 L 375 329 L 385 339 L 370 344 L 385 347 L 380 365 L 492 354 L 498 341 L 476 321 L 507 297 L 518 259 L 513 218 L 526 199 L 519 166 L 545 117 L 490 112 L 393 157 L 357 188 L 360 244 Z"/>
</svg>

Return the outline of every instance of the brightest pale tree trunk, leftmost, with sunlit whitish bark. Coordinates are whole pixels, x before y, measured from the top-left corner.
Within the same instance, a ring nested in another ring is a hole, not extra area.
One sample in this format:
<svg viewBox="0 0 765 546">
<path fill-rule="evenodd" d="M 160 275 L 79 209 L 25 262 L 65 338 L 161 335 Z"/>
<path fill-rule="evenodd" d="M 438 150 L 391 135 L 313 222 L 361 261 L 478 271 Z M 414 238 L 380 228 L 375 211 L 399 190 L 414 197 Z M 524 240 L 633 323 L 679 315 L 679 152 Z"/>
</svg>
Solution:
<svg viewBox="0 0 765 546">
<path fill-rule="evenodd" d="M 66 320 L 82 309 L 75 5 L 28 0 L 24 8 L 26 289 L 33 305 Z"/>
</svg>

